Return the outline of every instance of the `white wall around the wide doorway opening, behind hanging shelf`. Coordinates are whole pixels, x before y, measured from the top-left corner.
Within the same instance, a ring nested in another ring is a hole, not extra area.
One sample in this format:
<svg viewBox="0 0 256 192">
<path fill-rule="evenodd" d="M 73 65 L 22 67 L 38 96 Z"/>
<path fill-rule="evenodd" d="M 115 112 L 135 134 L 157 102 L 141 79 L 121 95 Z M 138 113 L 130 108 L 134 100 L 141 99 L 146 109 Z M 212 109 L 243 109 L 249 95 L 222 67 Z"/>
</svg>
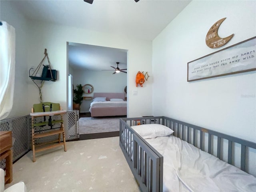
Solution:
<svg viewBox="0 0 256 192">
<path fill-rule="evenodd" d="M 76 42 L 128 50 L 128 116 L 152 114 L 152 82 L 148 81 L 143 88 L 136 88 L 135 84 L 135 77 L 139 70 L 148 71 L 151 74 L 152 42 L 34 21 L 29 21 L 28 36 L 30 37 L 28 67 L 39 63 L 44 56 L 44 48 L 47 48 L 52 67 L 58 70 L 56 82 L 44 83 L 43 101 L 59 102 L 64 109 L 66 108 L 68 73 L 66 43 Z M 132 95 L 132 90 L 138 90 L 138 95 Z M 29 84 L 29 93 L 30 104 L 39 102 L 38 92 L 32 83 Z"/>
</svg>

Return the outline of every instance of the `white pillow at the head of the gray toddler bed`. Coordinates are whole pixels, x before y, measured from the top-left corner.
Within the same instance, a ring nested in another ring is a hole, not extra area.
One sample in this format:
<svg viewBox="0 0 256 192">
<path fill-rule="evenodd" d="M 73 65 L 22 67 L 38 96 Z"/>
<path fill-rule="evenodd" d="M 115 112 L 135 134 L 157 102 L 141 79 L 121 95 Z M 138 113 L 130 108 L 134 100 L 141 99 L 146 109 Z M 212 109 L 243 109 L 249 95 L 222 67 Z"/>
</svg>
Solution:
<svg viewBox="0 0 256 192">
<path fill-rule="evenodd" d="M 143 124 L 131 126 L 142 138 L 150 139 L 164 137 L 172 134 L 174 131 L 161 124 Z"/>
</svg>

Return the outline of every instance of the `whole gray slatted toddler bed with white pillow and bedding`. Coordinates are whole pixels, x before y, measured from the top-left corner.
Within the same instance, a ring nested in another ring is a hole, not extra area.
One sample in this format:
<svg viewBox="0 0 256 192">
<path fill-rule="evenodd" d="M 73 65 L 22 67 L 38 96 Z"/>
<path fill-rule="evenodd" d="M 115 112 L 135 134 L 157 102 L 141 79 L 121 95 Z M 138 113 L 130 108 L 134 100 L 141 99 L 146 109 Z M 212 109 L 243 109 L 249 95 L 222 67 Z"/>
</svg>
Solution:
<svg viewBox="0 0 256 192">
<path fill-rule="evenodd" d="M 250 141 L 161 116 L 121 118 L 120 147 L 142 191 L 256 191 Z"/>
</svg>

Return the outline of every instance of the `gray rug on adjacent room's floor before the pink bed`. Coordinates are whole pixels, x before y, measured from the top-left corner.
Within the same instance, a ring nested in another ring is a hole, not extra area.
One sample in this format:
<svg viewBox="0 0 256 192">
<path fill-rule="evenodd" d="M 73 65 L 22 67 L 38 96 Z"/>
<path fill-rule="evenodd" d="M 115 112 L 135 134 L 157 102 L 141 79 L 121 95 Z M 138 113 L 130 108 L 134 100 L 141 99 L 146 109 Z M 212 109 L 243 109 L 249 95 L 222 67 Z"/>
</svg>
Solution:
<svg viewBox="0 0 256 192">
<path fill-rule="evenodd" d="M 122 117 L 82 117 L 79 119 L 79 134 L 119 131 Z"/>
</svg>

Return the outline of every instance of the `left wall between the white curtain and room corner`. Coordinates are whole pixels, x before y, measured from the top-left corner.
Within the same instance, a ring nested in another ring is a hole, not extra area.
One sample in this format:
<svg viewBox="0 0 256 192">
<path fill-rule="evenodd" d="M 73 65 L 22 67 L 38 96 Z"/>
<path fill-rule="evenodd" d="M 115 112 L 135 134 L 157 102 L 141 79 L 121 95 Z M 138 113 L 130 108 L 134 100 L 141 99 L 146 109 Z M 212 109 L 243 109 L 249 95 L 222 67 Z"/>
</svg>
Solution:
<svg viewBox="0 0 256 192">
<path fill-rule="evenodd" d="M 28 67 L 27 67 L 27 27 L 26 19 L 11 6 L 11 1 L 1 1 L 0 18 L 15 28 L 16 35 L 16 65 L 14 101 L 12 111 L 7 118 L 27 115 L 31 111 L 28 105 Z M 31 80 L 30 80 L 31 81 Z"/>
</svg>

